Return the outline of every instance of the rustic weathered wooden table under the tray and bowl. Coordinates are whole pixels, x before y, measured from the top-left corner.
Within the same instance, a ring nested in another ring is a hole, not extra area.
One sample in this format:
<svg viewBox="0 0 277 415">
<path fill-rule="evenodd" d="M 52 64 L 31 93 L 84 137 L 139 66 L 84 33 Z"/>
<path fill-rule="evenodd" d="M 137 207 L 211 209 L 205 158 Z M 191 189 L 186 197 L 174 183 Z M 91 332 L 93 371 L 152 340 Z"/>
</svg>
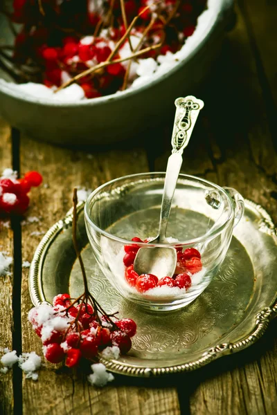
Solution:
<svg viewBox="0 0 277 415">
<path fill-rule="evenodd" d="M 194 144 L 184 155 L 184 171 L 230 185 L 264 206 L 277 222 L 277 3 L 238 1 L 238 22 L 228 34 L 213 74 L 198 92 L 205 102 Z M 194 91 L 192 91 L 194 93 Z M 28 216 L 39 223 L 13 221 L 1 227 L 0 248 L 14 257 L 13 272 L 0 279 L 1 347 L 41 354 L 27 322 L 32 306 L 28 269 L 39 240 L 71 207 L 74 185 L 95 188 L 125 174 L 163 170 L 170 154 L 171 125 L 158 154 L 147 143 L 136 147 L 72 151 L 30 140 L 1 120 L 0 169 L 36 169 L 44 185 L 32 194 Z M 0 374 L 3 414 L 277 414 L 277 321 L 249 349 L 190 374 L 157 380 L 116 376 L 104 389 L 85 378 L 57 374 L 51 365 L 38 382 L 20 369 Z"/>
</svg>

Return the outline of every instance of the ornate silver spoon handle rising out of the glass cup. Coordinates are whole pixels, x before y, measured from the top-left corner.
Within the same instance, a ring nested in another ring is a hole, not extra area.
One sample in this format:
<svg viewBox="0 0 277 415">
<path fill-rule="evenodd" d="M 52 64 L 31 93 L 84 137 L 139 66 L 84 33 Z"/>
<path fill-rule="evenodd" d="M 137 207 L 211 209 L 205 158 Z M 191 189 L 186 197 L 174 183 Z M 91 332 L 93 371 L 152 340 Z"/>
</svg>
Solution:
<svg viewBox="0 0 277 415">
<path fill-rule="evenodd" d="M 158 237 L 161 243 L 167 242 L 166 227 L 168 225 L 172 199 L 175 194 L 175 187 L 183 162 L 181 155 L 183 154 L 184 148 L 188 145 L 199 111 L 204 107 L 204 102 L 197 100 L 193 96 L 188 96 L 186 98 L 177 98 L 175 105 L 176 113 L 171 140 L 172 154 L 168 158 L 166 179 L 163 187 L 163 200 L 161 201 Z"/>
</svg>

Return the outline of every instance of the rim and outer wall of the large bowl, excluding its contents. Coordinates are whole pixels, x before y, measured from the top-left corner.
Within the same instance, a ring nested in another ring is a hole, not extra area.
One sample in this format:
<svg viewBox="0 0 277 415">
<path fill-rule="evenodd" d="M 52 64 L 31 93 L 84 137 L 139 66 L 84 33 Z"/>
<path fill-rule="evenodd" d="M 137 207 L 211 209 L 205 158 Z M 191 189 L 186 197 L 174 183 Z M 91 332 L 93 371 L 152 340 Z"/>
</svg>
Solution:
<svg viewBox="0 0 277 415">
<path fill-rule="evenodd" d="M 188 55 L 148 84 L 71 103 L 40 100 L 0 84 L 1 116 L 28 136 L 60 145 L 108 144 L 160 124 L 175 98 L 193 93 L 204 80 L 233 21 L 233 0 L 208 0 L 208 9 L 211 18 Z M 6 43 L 10 36 L 2 18 L 0 39 Z M 0 71 L 1 77 L 8 80 Z"/>
</svg>

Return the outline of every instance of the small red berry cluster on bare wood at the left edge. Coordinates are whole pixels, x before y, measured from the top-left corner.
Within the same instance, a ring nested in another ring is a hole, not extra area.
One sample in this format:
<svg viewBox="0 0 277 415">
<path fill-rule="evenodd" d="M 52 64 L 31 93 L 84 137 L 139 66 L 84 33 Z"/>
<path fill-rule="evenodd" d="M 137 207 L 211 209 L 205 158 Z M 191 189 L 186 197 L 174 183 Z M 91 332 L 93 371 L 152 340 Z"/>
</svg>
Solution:
<svg viewBox="0 0 277 415">
<path fill-rule="evenodd" d="M 31 187 L 42 183 L 38 172 L 28 172 L 24 178 L 0 178 L 0 216 L 4 214 L 24 214 L 30 199 L 28 192 Z"/>
</svg>

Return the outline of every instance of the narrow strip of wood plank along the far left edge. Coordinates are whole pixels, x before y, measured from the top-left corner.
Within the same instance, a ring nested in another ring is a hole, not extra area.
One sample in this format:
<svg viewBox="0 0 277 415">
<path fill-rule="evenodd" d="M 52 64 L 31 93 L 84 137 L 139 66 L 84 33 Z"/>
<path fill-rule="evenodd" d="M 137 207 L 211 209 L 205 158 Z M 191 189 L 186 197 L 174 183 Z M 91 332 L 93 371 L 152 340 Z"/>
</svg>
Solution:
<svg viewBox="0 0 277 415">
<path fill-rule="evenodd" d="M 0 175 L 3 169 L 12 167 L 12 148 L 10 127 L 0 119 Z M 0 251 L 13 256 L 13 236 L 10 221 L 0 220 Z M 12 268 L 12 267 L 11 267 Z M 11 269 L 12 272 L 12 269 Z M 0 276 L 0 350 L 12 350 L 12 274 Z M 13 414 L 12 370 L 0 373 L 0 412 Z"/>
</svg>

